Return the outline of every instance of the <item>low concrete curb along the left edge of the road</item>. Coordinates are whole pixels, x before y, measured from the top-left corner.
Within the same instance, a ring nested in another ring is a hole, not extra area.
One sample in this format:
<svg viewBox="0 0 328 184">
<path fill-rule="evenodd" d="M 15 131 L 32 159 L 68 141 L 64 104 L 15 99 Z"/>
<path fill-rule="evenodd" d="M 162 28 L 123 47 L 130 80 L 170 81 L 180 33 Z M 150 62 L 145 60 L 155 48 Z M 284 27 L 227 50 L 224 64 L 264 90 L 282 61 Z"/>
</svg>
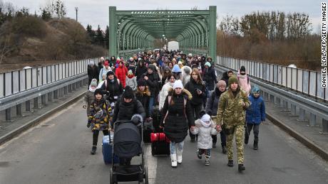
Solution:
<svg viewBox="0 0 328 184">
<path fill-rule="evenodd" d="M 27 129 L 30 129 L 33 126 L 38 125 L 39 123 L 41 123 L 41 121 L 43 121 L 44 119 L 46 119 L 48 117 L 51 117 L 56 112 L 59 112 L 63 108 L 70 106 L 74 102 L 77 102 L 78 99 L 81 99 L 81 97 L 83 97 L 84 94 L 86 94 L 86 92 L 78 94 L 76 97 L 73 97 L 73 99 L 69 99 L 68 102 L 65 102 L 65 103 L 59 105 L 58 107 L 55 107 L 54 109 L 51 109 L 50 111 L 42 114 L 39 117 L 36 117 L 35 119 L 32 119 L 31 121 L 29 121 L 26 124 L 20 126 L 19 128 L 14 129 L 13 131 L 10 131 L 8 134 L 6 134 L 4 136 L 1 136 L 0 137 L 0 146 L 2 144 L 6 143 L 6 141 L 10 141 L 14 137 L 16 137 L 18 134 L 21 134 L 21 132 L 26 131 Z"/>
</svg>

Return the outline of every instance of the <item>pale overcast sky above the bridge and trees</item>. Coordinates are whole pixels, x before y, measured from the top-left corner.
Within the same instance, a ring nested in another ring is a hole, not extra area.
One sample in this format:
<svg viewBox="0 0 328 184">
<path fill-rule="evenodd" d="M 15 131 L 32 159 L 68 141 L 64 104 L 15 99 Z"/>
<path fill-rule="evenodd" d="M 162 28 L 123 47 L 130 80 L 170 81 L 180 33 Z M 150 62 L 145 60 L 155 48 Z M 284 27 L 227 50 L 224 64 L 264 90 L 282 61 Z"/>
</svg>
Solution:
<svg viewBox="0 0 328 184">
<path fill-rule="evenodd" d="M 0 0 L 8 1 L 8 0 Z M 30 13 L 40 13 L 39 7 L 46 3 L 47 0 L 10 0 L 14 6 L 25 6 Z M 156 10 L 156 9 L 179 9 L 190 10 L 197 6 L 198 9 L 208 9 L 209 6 L 217 6 L 217 16 L 222 17 L 227 14 L 232 16 L 245 15 L 252 11 L 284 11 L 307 13 L 312 22 L 312 28 L 317 33 L 319 31 L 321 1 L 319 0 L 210 0 L 210 1 L 178 1 L 178 0 L 147 0 L 147 1 L 130 1 L 130 0 L 63 0 L 67 16 L 76 18 L 74 7 L 78 7 L 78 21 L 84 27 L 91 24 L 93 29 L 98 25 L 106 28 L 108 25 L 108 6 L 116 6 L 117 10 Z M 220 21 L 220 19 L 219 19 Z"/>
</svg>

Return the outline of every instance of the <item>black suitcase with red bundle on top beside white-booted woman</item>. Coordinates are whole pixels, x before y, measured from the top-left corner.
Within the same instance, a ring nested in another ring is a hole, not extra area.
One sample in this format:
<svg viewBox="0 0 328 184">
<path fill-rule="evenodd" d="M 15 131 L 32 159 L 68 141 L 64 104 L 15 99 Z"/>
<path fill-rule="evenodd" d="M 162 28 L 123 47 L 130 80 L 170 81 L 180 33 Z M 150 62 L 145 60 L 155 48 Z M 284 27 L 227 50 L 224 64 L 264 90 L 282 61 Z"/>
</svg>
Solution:
<svg viewBox="0 0 328 184">
<path fill-rule="evenodd" d="M 151 154 L 155 155 L 170 155 L 170 140 L 163 132 L 151 133 Z"/>
</svg>

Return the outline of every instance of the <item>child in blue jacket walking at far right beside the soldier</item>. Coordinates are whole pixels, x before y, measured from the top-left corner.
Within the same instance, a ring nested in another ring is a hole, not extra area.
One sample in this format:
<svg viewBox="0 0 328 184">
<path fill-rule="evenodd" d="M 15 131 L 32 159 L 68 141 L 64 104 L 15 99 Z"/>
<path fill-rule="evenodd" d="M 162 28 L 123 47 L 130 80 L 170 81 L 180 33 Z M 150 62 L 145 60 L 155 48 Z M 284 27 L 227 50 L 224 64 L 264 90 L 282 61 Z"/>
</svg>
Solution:
<svg viewBox="0 0 328 184">
<path fill-rule="evenodd" d="M 253 149 L 259 148 L 259 131 L 261 121 L 265 121 L 265 102 L 260 97 L 260 87 L 256 85 L 252 88 L 252 94 L 248 96 L 250 99 L 250 107 L 246 110 L 246 131 L 245 131 L 245 144 L 248 144 L 250 138 L 250 131 L 253 129 L 254 144 Z"/>
</svg>

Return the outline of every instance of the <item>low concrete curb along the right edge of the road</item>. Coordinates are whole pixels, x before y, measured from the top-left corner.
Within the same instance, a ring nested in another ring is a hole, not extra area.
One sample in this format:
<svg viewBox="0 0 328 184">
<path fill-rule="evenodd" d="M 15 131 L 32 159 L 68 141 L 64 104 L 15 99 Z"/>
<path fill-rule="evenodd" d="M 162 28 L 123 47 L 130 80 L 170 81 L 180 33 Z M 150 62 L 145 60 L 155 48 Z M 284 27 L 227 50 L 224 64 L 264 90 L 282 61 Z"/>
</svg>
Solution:
<svg viewBox="0 0 328 184">
<path fill-rule="evenodd" d="M 297 141 L 301 142 L 302 144 L 304 144 L 305 146 L 310 148 L 312 151 L 317 153 L 319 156 L 321 156 L 324 160 L 328 161 L 328 152 L 327 151 L 320 148 L 320 146 L 315 144 L 313 141 L 307 139 L 307 137 L 302 136 L 302 134 L 299 134 L 297 131 L 294 131 L 291 127 L 287 126 L 279 119 L 276 119 L 272 114 L 270 114 L 270 113 L 266 113 L 266 114 L 267 114 L 267 119 L 272 121 L 273 124 L 275 124 L 276 126 L 279 126 L 280 129 L 287 132 L 287 134 L 294 137 L 294 139 L 297 139 Z"/>
</svg>

